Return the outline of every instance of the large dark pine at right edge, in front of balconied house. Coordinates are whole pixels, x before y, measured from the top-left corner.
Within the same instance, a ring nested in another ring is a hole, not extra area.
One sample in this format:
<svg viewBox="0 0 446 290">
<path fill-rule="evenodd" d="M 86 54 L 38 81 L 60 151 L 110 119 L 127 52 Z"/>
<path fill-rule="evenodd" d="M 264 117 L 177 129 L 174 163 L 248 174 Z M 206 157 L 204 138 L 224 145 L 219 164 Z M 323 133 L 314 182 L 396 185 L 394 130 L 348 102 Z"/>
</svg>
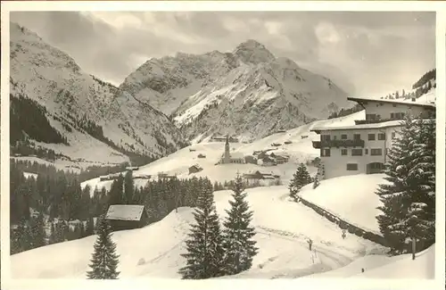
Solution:
<svg viewBox="0 0 446 290">
<path fill-rule="evenodd" d="M 409 243 L 420 248 L 434 243 L 435 231 L 435 128 L 407 116 L 401 136 L 393 139 L 385 179 L 376 194 L 383 203 L 379 228 L 392 253 L 409 252 Z"/>
</svg>

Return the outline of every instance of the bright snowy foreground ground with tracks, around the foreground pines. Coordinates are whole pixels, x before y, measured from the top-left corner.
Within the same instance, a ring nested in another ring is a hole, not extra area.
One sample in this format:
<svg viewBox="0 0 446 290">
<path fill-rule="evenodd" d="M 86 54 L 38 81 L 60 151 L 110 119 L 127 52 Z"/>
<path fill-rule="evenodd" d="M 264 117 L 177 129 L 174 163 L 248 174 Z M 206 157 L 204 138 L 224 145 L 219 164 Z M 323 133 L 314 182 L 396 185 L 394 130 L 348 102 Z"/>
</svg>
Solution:
<svg viewBox="0 0 446 290">
<path fill-rule="evenodd" d="M 384 248 L 358 236 L 342 237 L 335 224 L 300 203 L 288 202 L 285 186 L 247 189 L 252 207 L 252 225 L 260 253 L 252 269 L 240 278 L 299 278 L 348 265 L 368 253 L 384 253 Z M 220 218 L 225 217 L 230 191 L 216 192 Z M 185 265 L 191 208 L 172 211 L 163 220 L 145 228 L 113 234 L 120 254 L 120 278 L 180 278 Z M 309 251 L 307 240 L 313 240 Z M 13 278 L 85 278 L 95 236 L 47 245 L 12 255 Z M 359 271 L 359 269 L 358 269 Z M 341 277 L 343 277 L 341 275 Z"/>
</svg>

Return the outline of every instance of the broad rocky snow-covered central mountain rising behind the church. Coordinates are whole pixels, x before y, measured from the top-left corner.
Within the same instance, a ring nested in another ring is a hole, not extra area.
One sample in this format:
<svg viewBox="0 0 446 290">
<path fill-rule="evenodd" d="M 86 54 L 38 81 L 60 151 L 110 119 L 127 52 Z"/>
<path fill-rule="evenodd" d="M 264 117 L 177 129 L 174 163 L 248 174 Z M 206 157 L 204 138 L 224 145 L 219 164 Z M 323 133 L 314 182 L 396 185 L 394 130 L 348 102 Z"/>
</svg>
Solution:
<svg viewBox="0 0 446 290">
<path fill-rule="evenodd" d="M 258 139 L 353 105 L 330 79 L 276 58 L 254 40 L 232 53 L 151 59 L 120 88 L 172 113 L 191 139 L 214 133 Z"/>
</svg>

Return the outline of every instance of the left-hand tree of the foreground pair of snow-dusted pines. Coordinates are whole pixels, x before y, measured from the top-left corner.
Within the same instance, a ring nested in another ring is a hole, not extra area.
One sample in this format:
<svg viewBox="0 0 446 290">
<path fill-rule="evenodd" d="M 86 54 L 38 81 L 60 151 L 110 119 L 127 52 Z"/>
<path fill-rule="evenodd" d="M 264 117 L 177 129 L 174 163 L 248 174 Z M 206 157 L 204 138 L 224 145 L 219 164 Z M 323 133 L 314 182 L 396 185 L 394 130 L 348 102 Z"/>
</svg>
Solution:
<svg viewBox="0 0 446 290">
<path fill-rule="evenodd" d="M 194 218 L 196 223 L 186 240 L 187 253 L 181 254 L 186 258 L 186 266 L 179 273 L 186 279 L 219 277 L 224 274 L 224 250 L 211 182 L 200 186 Z"/>
</svg>

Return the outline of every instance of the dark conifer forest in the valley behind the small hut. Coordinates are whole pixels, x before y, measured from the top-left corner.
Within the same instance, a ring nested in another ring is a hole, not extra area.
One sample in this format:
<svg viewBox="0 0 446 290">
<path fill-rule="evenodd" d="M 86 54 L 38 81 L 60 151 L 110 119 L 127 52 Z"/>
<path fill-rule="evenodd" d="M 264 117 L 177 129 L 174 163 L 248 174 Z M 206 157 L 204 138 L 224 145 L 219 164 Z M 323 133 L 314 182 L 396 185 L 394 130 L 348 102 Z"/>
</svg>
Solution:
<svg viewBox="0 0 446 290">
<path fill-rule="evenodd" d="M 37 178 L 25 178 L 24 172 L 33 173 Z M 136 186 L 132 171 L 127 171 L 111 183 L 110 190 L 81 188 L 85 175 L 13 159 L 10 177 L 12 254 L 94 235 L 94 220 L 111 204 L 145 205 L 150 224 L 178 207 L 194 207 L 202 186 L 212 190 L 234 186 L 232 180 L 212 185 L 209 178 L 159 178 L 147 181 L 145 186 Z M 246 183 L 245 186 L 260 185 Z"/>
</svg>

